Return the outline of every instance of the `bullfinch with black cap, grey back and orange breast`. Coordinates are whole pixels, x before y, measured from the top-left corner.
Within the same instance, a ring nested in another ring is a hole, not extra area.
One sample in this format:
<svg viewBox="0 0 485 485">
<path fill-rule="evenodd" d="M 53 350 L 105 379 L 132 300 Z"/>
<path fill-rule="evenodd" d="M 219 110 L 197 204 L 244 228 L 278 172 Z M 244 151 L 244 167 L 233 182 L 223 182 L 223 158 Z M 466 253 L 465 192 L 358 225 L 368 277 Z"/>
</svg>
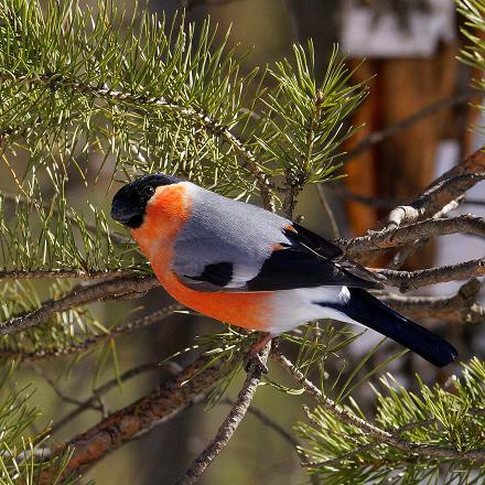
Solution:
<svg viewBox="0 0 485 485">
<path fill-rule="evenodd" d="M 187 180 L 148 174 L 114 196 L 126 226 L 168 293 L 215 320 L 273 337 L 309 321 L 369 327 L 443 367 L 456 349 L 369 290 L 382 282 L 334 242 L 265 208 Z"/>
</svg>

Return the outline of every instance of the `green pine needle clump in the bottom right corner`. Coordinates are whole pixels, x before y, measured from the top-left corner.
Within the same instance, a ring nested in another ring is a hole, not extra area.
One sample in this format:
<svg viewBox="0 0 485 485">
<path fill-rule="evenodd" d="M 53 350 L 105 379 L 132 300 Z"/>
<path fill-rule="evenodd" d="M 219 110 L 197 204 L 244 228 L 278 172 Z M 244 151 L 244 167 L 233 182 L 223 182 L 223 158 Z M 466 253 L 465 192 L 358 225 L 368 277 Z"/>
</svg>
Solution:
<svg viewBox="0 0 485 485">
<path fill-rule="evenodd" d="M 430 444 L 457 453 L 485 446 L 485 363 L 473 359 L 463 375 L 446 389 L 425 386 L 410 392 L 390 375 L 380 379 L 376 424 L 410 443 Z M 351 399 L 345 408 L 363 417 Z M 314 462 L 310 473 L 326 484 L 472 484 L 483 483 L 485 467 L 473 460 L 446 459 L 414 453 L 376 441 L 355 425 L 343 423 L 330 410 L 317 407 L 309 414 L 311 424 L 298 431 L 308 441 L 304 452 Z"/>
</svg>

